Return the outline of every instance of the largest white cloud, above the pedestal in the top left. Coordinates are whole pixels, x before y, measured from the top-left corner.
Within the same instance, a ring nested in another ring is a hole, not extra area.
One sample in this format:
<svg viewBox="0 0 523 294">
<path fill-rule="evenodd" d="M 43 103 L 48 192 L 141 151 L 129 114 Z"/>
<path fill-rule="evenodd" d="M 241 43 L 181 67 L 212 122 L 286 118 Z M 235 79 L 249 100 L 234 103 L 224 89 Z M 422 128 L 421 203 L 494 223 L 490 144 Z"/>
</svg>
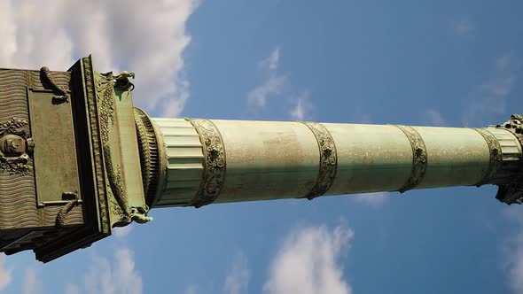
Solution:
<svg viewBox="0 0 523 294">
<path fill-rule="evenodd" d="M 176 116 L 188 97 L 183 51 L 191 42 L 186 21 L 195 0 L 2 1 L 1 67 L 66 70 L 93 54 L 99 71 L 137 74 L 135 103 Z"/>
</svg>

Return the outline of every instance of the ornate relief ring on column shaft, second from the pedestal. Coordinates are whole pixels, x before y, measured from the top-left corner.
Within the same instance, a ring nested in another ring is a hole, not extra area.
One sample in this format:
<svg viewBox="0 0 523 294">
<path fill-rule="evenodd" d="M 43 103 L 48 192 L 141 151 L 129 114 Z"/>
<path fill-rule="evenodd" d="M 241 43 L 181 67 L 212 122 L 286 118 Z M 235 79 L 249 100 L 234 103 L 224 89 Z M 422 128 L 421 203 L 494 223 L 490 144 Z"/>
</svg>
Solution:
<svg viewBox="0 0 523 294">
<path fill-rule="evenodd" d="M 302 122 L 316 137 L 320 151 L 320 167 L 316 182 L 305 198 L 312 200 L 325 194 L 334 182 L 338 168 L 338 154 L 336 145 L 329 130 L 317 122 Z"/>
</svg>

